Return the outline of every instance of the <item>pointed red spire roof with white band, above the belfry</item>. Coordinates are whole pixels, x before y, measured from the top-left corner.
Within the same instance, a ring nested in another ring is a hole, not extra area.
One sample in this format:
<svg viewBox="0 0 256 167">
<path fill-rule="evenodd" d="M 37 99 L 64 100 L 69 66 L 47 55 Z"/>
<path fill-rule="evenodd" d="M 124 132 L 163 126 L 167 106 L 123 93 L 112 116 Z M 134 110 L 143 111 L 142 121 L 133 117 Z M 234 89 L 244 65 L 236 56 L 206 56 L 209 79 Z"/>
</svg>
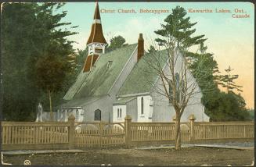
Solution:
<svg viewBox="0 0 256 167">
<path fill-rule="evenodd" d="M 95 9 L 95 12 L 94 12 L 93 19 L 94 20 L 93 20 L 93 23 L 92 23 L 91 34 L 90 34 L 90 37 L 88 38 L 87 44 L 90 44 L 92 42 L 98 42 L 98 43 L 106 44 L 106 40 L 105 40 L 105 37 L 103 35 L 103 27 L 101 26 L 101 21 L 100 21 L 98 2 L 96 2 L 96 9 Z"/>
</svg>

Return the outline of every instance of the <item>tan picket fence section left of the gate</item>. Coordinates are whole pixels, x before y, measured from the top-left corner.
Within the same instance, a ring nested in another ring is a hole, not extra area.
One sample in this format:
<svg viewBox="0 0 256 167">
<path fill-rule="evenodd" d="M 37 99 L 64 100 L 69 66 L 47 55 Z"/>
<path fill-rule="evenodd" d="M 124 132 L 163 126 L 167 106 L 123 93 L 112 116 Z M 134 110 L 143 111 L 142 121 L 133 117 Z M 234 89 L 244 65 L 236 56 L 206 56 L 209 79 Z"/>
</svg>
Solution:
<svg viewBox="0 0 256 167">
<path fill-rule="evenodd" d="M 2 148 L 41 149 L 68 146 L 69 123 L 2 122 Z"/>
</svg>

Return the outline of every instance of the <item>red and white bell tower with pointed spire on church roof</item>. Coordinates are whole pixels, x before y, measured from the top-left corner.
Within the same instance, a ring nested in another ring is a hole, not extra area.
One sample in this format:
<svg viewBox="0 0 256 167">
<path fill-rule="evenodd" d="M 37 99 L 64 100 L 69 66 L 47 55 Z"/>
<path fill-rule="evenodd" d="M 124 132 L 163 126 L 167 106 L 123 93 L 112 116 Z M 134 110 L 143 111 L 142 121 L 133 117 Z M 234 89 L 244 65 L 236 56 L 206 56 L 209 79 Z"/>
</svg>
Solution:
<svg viewBox="0 0 256 167">
<path fill-rule="evenodd" d="M 87 41 L 88 56 L 85 60 L 84 72 L 90 71 L 97 59 L 99 59 L 99 56 L 105 53 L 106 44 L 99 15 L 99 4 L 96 2 L 91 34 Z"/>
</svg>

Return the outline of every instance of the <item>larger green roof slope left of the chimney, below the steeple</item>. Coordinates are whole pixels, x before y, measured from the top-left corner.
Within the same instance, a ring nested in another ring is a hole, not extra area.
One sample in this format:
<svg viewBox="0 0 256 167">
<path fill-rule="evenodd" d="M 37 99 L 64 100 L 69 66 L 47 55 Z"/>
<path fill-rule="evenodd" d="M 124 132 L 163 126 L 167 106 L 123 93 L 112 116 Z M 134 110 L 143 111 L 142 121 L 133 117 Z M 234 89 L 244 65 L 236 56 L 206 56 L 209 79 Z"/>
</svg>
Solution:
<svg viewBox="0 0 256 167">
<path fill-rule="evenodd" d="M 132 56 L 136 46 L 137 44 L 130 44 L 100 55 L 95 66 L 92 67 L 92 72 L 83 73 L 81 71 L 64 99 L 71 100 L 106 95 L 124 68 L 125 63 Z"/>
</svg>

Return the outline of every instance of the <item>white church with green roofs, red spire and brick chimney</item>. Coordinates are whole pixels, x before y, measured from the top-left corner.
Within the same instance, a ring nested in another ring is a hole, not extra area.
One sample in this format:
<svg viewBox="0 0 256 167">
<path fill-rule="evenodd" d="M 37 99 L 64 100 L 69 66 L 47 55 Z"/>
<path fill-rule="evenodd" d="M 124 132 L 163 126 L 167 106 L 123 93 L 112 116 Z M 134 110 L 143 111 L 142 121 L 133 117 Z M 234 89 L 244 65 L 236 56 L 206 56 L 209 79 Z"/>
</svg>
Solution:
<svg viewBox="0 0 256 167">
<path fill-rule="evenodd" d="M 56 108 L 56 120 L 67 121 L 73 114 L 78 122 L 123 122 L 126 115 L 132 117 L 132 122 L 171 122 L 175 109 L 168 99 L 157 94 L 155 88 L 160 85 L 160 78 L 154 73 L 148 75 L 146 71 L 150 67 L 142 61 L 152 56 L 144 51 L 142 34 L 138 34 L 138 43 L 111 52 L 106 52 L 106 44 L 96 2 L 87 41 L 88 56 L 77 80 L 63 97 L 67 102 Z M 160 51 L 160 54 L 168 62 L 167 52 Z M 177 56 L 181 63 L 179 52 Z M 161 65 L 163 69 L 167 68 L 165 65 Z M 191 73 L 188 75 L 193 79 Z M 200 91 L 199 87 L 197 89 Z M 196 121 L 209 121 L 201 97 L 198 93 L 189 101 L 182 122 L 187 122 L 191 114 L 195 115 Z"/>
</svg>

